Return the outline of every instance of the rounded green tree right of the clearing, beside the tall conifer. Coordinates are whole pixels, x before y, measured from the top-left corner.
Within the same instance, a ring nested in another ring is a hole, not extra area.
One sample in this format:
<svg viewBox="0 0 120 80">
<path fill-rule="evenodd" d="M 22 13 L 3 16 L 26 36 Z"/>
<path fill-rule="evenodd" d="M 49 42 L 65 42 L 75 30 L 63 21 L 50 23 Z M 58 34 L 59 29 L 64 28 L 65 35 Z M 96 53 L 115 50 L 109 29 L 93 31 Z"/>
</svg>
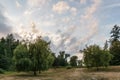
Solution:
<svg viewBox="0 0 120 80">
<path fill-rule="evenodd" d="M 87 68 L 107 67 L 112 58 L 112 55 L 107 50 L 102 50 L 98 45 L 90 45 L 83 50 L 84 64 Z"/>
</svg>

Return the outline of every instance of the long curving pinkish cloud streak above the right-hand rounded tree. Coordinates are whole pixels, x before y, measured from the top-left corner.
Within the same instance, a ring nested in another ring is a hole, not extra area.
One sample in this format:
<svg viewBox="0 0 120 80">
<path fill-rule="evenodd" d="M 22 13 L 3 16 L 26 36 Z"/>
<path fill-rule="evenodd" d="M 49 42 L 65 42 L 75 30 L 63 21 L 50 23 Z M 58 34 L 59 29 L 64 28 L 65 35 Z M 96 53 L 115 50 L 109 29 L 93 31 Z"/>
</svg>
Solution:
<svg viewBox="0 0 120 80">
<path fill-rule="evenodd" d="M 86 8 L 84 15 L 82 15 L 80 19 L 81 26 L 85 26 L 84 30 L 87 30 L 87 35 L 84 35 L 84 38 L 78 40 L 75 44 L 70 46 L 70 50 L 79 50 L 79 46 L 83 46 L 84 43 L 88 42 L 97 34 L 99 21 L 94 17 L 94 13 L 100 5 L 100 0 L 92 1 L 93 4 Z"/>
</svg>

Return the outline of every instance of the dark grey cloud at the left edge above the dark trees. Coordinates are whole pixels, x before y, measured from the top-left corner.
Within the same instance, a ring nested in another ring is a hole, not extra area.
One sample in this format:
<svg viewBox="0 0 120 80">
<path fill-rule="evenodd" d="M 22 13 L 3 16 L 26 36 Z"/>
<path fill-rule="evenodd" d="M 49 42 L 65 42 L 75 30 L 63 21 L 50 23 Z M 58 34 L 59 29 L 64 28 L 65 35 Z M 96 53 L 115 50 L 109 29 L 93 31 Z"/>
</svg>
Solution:
<svg viewBox="0 0 120 80">
<path fill-rule="evenodd" d="M 11 32 L 11 27 L 8 24 L 8 18 L 5 16 L 4 7 L 0 5 L 0 35 L 6 35 Z"/>
</svg>

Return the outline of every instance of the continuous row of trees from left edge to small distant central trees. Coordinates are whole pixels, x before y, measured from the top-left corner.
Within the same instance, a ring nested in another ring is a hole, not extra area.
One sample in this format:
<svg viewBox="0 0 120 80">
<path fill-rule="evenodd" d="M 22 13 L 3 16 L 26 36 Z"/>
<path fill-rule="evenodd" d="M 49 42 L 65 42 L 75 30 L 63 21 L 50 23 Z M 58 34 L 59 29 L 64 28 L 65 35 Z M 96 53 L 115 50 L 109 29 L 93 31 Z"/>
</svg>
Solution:
<svg viewBox="0 0 120 80">
<path fill-rule="evenodd" d="M 8 34 L 0 39 L 0 73 L 6 71 L 32 71 L 34 75 L 49 68 L 77 66 L 77 56 L 67 58 L 70 54 L 60 51 L 56 56 L 50 49 L 50 42 L 42 37 L 34 41 L 16 40 L 13 34 Z M 74 63 L 75 62 L 75 63 Z"/>
</svg>

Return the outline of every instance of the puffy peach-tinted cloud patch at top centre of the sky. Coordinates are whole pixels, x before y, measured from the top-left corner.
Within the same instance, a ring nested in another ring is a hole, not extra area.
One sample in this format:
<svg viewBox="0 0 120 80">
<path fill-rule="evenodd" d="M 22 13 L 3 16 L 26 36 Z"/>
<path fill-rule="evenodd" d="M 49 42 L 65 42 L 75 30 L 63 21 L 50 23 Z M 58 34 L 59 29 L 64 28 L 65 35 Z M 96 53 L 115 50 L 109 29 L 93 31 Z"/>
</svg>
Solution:
<svg viewBox="0 0 120 80">
<path fill-rule="evenodd" d="M 55 5 L 53 5 L 53 11 L 62 14 L 70 9 L 70 6 L 65 1 L 59 1 Z"/>
</svg>

